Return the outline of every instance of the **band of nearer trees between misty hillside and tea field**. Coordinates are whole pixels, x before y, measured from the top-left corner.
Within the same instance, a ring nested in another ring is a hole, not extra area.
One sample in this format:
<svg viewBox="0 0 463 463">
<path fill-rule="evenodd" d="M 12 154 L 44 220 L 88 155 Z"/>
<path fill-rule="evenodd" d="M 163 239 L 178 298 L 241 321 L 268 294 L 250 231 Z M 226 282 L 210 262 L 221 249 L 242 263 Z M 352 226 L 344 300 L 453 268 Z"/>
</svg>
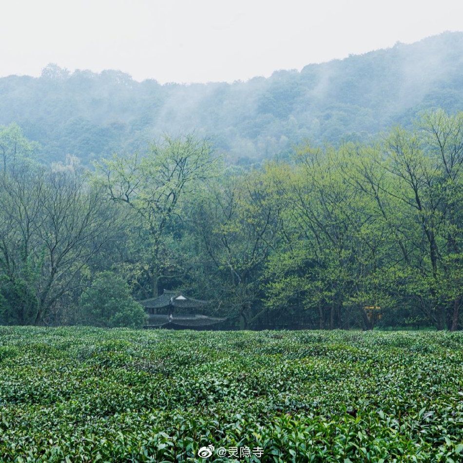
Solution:
<svg viewBox="0 0 463 463">
<path fill-rule="evenodd" d="M 182 289 L 229 328 L 461 327 L 463 113 L 230 165 L 198 134 L 82 166 L 0 128 L 0 322 L 143 325 Z"/>
</svg>

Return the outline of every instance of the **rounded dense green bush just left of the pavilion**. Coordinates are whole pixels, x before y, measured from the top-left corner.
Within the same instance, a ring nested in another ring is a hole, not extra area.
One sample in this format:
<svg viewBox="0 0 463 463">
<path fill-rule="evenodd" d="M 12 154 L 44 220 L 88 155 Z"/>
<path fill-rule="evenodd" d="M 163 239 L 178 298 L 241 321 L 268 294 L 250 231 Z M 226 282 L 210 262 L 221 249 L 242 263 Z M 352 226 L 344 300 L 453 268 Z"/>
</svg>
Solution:
<svg viewBox="0 0 463 463">
<path fill-rule="evenodd" d="M 83 325 L 141 328 L 145 323 L 145 311 L 132 299 L 127 282 L 110 271 L 96 274 L 79 306 Z"/>
</svg>

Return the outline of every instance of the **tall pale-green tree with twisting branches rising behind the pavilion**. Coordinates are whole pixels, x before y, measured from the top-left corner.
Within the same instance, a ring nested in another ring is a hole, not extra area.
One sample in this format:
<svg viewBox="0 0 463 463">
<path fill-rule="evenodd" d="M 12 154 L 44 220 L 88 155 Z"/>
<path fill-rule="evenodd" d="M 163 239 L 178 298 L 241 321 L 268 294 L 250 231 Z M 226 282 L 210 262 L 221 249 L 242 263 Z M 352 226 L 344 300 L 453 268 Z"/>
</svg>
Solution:
<svg viewBox="0 0 463 463">
<path fill-rule="evenodd" d="M 167 243 L 180 205 L 215 174 L 216 164 L 210 143 L 194 135 L 165 136 L 146 155 L 115 154 L 96 163 L 98 181 L 111 200 L 131 209 L 129 229 L 134 239 L 129 240 L 136 260 L 129 264 L 138 280 L 146 280 L 146 295 L 156 297 L 159 282 L 172 276 Z"/>
</svg>

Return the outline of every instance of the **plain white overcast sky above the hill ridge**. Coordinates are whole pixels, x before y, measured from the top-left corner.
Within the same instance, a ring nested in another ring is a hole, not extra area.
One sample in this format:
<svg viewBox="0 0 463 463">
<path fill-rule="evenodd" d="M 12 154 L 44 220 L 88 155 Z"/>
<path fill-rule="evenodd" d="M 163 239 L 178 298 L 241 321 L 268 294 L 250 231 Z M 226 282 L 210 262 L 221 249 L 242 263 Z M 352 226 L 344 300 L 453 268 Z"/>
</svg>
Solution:
<svg viewBox="0 0 463 463">
<path fill-rule="evenodd" d="M 11 0 L 0 77 L 118 69 L 135 80 L 268 77 L 463 30 L 461 0 Z"/>
</svg>

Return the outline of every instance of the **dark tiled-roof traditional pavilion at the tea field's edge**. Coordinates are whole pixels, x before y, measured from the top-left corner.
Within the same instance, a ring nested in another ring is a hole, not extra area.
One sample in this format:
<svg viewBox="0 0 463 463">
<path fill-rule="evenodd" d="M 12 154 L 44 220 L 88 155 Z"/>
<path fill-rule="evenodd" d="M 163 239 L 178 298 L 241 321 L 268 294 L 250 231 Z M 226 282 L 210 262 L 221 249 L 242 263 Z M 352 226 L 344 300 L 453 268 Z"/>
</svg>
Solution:
<svg viewBox="0 0 463 463">
<path fill-rule="evenodd" d="M 187 297 L 180 291 L 164 289 L 160 296 L 138 302 L 148 315 L 146 328 L 211 329 L 226 320 L 196 313 L 206 309 L 209 302 Z"/>
</svg>

